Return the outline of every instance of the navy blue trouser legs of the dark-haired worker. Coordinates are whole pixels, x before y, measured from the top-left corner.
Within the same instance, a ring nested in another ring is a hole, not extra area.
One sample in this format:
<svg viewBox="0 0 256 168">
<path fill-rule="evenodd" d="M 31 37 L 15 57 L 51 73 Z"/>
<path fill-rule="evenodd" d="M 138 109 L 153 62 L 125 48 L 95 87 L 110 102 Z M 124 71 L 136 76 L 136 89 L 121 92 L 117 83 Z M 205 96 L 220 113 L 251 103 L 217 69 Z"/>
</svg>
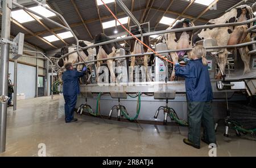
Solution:
<svg viewBox="0 0 256 168">
<path fill-rule="evenodd" d="M 77 95 L 64 96 L 65 100 L 65 121 L 69 122 L 74 118 L 74 109 L 76 106 Z"/>
</svg>

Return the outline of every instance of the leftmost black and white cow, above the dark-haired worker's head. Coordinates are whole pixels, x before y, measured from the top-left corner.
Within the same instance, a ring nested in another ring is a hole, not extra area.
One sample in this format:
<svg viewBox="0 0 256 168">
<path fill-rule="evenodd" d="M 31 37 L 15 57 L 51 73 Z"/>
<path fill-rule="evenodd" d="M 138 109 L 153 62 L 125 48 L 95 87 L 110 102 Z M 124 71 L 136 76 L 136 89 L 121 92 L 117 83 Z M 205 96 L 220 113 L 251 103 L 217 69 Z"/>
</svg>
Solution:
<svg viewBox="0 0 256 168">
<path fill-rule="evenodd" d="M 90 44 L 90 42 L 89 41 L 79 41 L 79 46 L 81 46 L 82 48 L 88 46 L 86 44 Z M 61 48 L 61 51 L 57 52 L 54 57 L 55 58 L 60 58 L 62 55 L 65 55 L 65 54 L 70 53 L 70 52 L 75 51 L 75 50 L 76 50 L 75 47 L 65 46 L 65 47 Z M 70 63 L 74 64 L 74 63 L 84 62 L 83 59 L 86 61 L 88 59 L 88 56 L 93 55 L 94 53 L 95 53 L 95 49 L 89 48 L 89 49 L 80 51 L 80 54 L 81 54 L 82 58 L 80 58 L 79 54 L 77 54 L 77 52 L 76 52 L 76 53 L 69 54 L 67 57 L 65 57 L 63 59 L 60 59 L 60 61 L 57 64 L 57 66 L 59 66 L 61 68 L 61 71 L 59 71 L 59 74 L 58 74 L 59 75 L 59 80 L 62 81 L 61 76 L 63 74 L 64 65 L 66 63 L 70 62 Z M 77 66 L 76 67 L 77 71 L 81 71 L 83 66 L 84 65 L 82 65 L 82 64 Z"/>
</svg>

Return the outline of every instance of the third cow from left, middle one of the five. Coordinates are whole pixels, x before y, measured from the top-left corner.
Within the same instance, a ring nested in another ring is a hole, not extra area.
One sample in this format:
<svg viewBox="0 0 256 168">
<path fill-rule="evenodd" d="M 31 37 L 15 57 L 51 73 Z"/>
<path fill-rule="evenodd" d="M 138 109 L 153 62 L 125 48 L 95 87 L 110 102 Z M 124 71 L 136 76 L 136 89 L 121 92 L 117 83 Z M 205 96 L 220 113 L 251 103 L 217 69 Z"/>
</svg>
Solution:
<svg viewBox="0 0 256 168">
<path fill-rule="evenodd" d="M 133 33 L 133 35 L 141 35 L 141 32 L 139 31 L 138 27 L 131 30 L 131 33 Z M 144 28 L 142 28 L 142 33 L 146 33 Z M 141 37 L 139 37 L 139 40 L 141 40 Z M 148 36 L 143 37 L 143 43 L 146 44 L 147 46 L 150 46 L 150 38 Z M 130 53 L 131 54 L 141 54 L 141 53 L 150 52 L 150 50 L 148 48 L 146 48 L 146 46 L 142 45 L 141 42 L 139 42 L 135 38 L 131 39 L 129 44 L 130 44 Z M 142 52 L 142 48 L 143 48 L 143 52 Z M 148 71 L 148 62 L 150 61 L 150 59 L 148 59 L 149 57 L 150 57 L 150 55 L 144 55 L 144 57 L 136 57 L 136 58 L 131 57 L 131 64 L 130 64 L 131 69 L 130 69 L 130 74 L 129 74 L 130 82 L 133 82 L 134 66 L 140 65 L 140 64 L 144 65 L 144 68 L 145 68 L 144 72 L 146 73 L 147 81 L 151 81 L 151 75 Z"/>
</svg>

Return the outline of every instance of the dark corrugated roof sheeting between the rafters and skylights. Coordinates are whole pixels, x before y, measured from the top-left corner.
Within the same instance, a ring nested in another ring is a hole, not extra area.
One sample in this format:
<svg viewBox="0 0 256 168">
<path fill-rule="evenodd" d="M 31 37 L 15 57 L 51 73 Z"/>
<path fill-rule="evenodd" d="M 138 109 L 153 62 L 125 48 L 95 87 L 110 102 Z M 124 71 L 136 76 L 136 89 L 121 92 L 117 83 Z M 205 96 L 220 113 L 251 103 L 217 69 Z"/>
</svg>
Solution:
<svg viewBox="0 0 256 168">
<path fill-rule="evenodd" d="M 228 8 L 232 7 L 233 5 L 235 5 L 236 3 L 240 2 L 240 1 L 241 0 L 220 0 L 217 2 L 216 10 L 208 10 L 203 16 L 201 16 L 201 18 L 207 19 L 207 20 L 218 18 L 219 16 L 224 14 L 225 10 L 227 10 Z M 47 2 L 53 8 L 53 10 L 55 10 L 55 11 L 59 12 L 61 15 L 63 15 L 63 17 L 65 18 L 65 20 L 67 21 L 67 23 L 69 25 L 73 24 L 72 29 L 77 34 L 79 39 L 86 40 L 86 41 L 92 41 L 92 39 L 88 35 L 88 32 L 84 28 L 84 25 L 82 25 L 81 20 L 80 20 L 79 16 L 77 15 L 75 8 L 73 7 L 70 0 L 49 0 Z M 132 0 L 125 0 L 123 2 L 129 9 L 131 9 Z M 146 8 L 147 2 L 148 2 L 148 0 L 134 0 L 134 10 L 135 11 L 133 12 L 133 14 L 134 14 L 135 18 L 137 18 L 138 20 L 141 19 L 143 11 Z M 155 25 L 157 24 L 156 22 L 162 18 L 163 11 L 166 10 L 166 8 L 170 4 L 170 2 L 171 2 L 170 0 L 155 0 L 154 1 L 153 5 L 152 5 L 153 9 L 151 9 L 150 12 L 148 13 L 147 20 L 146 20 L 146 21 L 150 21 L 151 31 L 155 29 Z M 246 3 L 251 5 L 254 2 L 255 2 L 255 0 L 249 0 Z M 98 20 L 97 7 L 95 4 L 95 1 L 94 0 L 75 0 L 75 3 L 80 11 L 82 19 L 84 19 L 85 21 L 89 20 L 89 23 L 86 23 L 86 25 L 88 26 L 90 33 L 92 33 L 92 36 L 94 37 L 95 35 L 97 35 L 97 33 L 102 32 L 100 21 Z M 181 13 L 188 5 L 189 5 L 189 2 L 186 0 L 174 0 L 174 2 L 172 3 L 172 6 L 169 8 L 169 11 Z M 114 3 L 108 3 L 108 6 L 110 7 L 110 9 L 113 12 L 115 11 Z M 104 6 L 99 6 L 99 8 L 100 8 L 101 18 L 102 17 L 104 18 L 105 16 L 110 16 L 110 12 L 108 10 L 106 10 L 106 8 Z M 203 12 L 205 10 L 205 8 L 206 8 L 206 6 L 200 5 L 198 3 L 194 3 L 191 7 L 188 8 L 187 12 L 185 12 L 185 15 L 190 15 L 192 18 L 196 18 L 199 14 L 201 14 L 201 12 Z M 139 9 L 141 9 L 141 10 L 139 10 Z M 156 9 L 159 9 L 160 11 L 158 11 Z M 123 12 L 122 9 L 118 5 L 117 5 L 117 12 L 118 13 Z M 126 16 L 126 15 L 125 14 L 118 15 L 118 18 L 122 18 L 124 16 Z M 178 15 L 170 14 L 167 12 L 167 14 L 165 14 L 164 16 L 176 18 Z M 57 17 L 53 17 L 52 19 L 54 21 L 56 21 L 57 23 L 62 24 L 61 21 Z M 102 21 L 104 21 L 104 22 L 109 21 L 109 20 L 113 20 L 113 17 L 110 17 L 109 19 L 102 19 Z M 1 21 L 1 19 L 0 19 L 0 21 Z M 51 29 L 56 28 L 55 24 L 52 24 L 51 22 L 44 20 L 44 19 L 42 19 L 42 21 L 47 27 L 49 27 Z M 202 21 L 196 21 L 195 24 L 201 25 L 201 24 L 205 24 L 205 23 L 203 23 Z M 46 31 L 46 29 L 44 27 L 42 27 L 42 25 L 40 25 L 36 21 L 31 21 L 29 23 L 23 23 L 22 25 L 34 33 L 39 33 L 39 36 L 41 36 L 41 37 L 51 35 L 51 33 L 48 33 Z M 131 21 L 130 25 L 134 25 L 132 23 L 132 21 Z M 158 27 L 155 30 L 160 31 L 160 30 L 163 30 L 166 28 L 168 28 L 167 25 L 158 24 Z M 114 27 L 105 29 L 106 35 L 108 35 L 108 36 L 114 35 L 114 33 L 113 33 L 114 29 L 115 29 Z M 64 32 L 64 31 L 65 30 L 61 29 L 60 31 L 56 31 L 56 33 Z M 49 46 L 42 40 L 39 40 L 39 38 L 30 37 L 31 35 L 29 35 L 28 32 L 26 32 L 26 31 L 24 31 L 24 29 L 18 27 L 18 25 L 15 25 L 12 23 L 11 24 L 11 34 L 15 36 L 19 32 L 23 32 L 26 34 L 25 40 L 27 42 L 30 42 L 31 44 L 34 44 L 44 50 L 52 50 L 53 49 L 52 46 Z M 44 34 L 42 35 L 41 32 L 44 32 Z M 47 32 L 47 33 L 45 33 L 45 32 Z M 124 32 L 124 30 L 120 26 L 118 26 L 118 32 Z M 68 42 L 68 44 L 72 44 L 75 42 L 75 40 L 73 38 L 65 39 L 65 41 Z M 52 44 L 57 47 L 60 47 L 60 48 L 65 45 L 61 41 L 55 41 L 55 42 L 52 42 Z"/>
</svg>

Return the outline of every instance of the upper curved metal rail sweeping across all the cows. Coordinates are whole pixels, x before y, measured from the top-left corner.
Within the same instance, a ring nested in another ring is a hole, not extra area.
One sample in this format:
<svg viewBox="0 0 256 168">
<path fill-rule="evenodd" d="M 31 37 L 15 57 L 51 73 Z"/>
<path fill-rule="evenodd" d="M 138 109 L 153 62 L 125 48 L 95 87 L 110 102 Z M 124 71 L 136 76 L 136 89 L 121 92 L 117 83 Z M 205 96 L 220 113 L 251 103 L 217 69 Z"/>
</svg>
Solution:
<svg viewBox="0 0 256 168">
<path fill-rule="evenodd" d="M 150 33 L 144 33 L 143 36 L 151 36 L 151 35 L 161 35 L 161 34 L 165 34 L 165 33 L 172 33 L 172 32 L 186 32 L 186 31 L 193 31 L 195 29 L 207 29 L 207 28 L 220 28 L 220 27 L 233 27 L 233 26 L 237 26 L 237 25 L 244 25 L 244 24 L 249 24 L 251 22 L 256 21 L 256 18 L 253 19 L 249 19 L 246 21 L 241 21 L 241 22 L 237 22 L 237 23 L 222 23 L 222 24 L 210 24 L 210 25 L 197 25 L 194 27 L 185 27 L 185 28 L 177 28 L 177 29 L 167 29 L 164 31 L 156 31 L 156 32 L 150 32 Z M 141 35 L 135 35 L 135 37 L 141 37 Z M 110 44 L 112 42 L 119 42 L 119 41 L 125 41 L 125 40 L 130 40 L 134 38 L 133 36 L 128 36 L 128 37 L 123 37 L 123 38 L 118 38 L 118 39 L 114 39 L 114 40 L 109 40 L 109 41 L 105 41 L 105 42 L 100 42 L 98 44 L 93 44 L 90 46 L 86 46 L 84 48 L 81 48 L 79 50 L 86 50 L 86 49 L 90 49 L 90 48 L 95 48 L 97 46 L 100 45 L 105 45 L 105 44 Z M 71 51 L 70 53 L 64 54 L 62 57 L 58 58 L 58 59 L 63 59 L 65 57 L 67 57 L 69 54 L 73 54 L 76 53 L 77 51 Z"/>
</svg>

